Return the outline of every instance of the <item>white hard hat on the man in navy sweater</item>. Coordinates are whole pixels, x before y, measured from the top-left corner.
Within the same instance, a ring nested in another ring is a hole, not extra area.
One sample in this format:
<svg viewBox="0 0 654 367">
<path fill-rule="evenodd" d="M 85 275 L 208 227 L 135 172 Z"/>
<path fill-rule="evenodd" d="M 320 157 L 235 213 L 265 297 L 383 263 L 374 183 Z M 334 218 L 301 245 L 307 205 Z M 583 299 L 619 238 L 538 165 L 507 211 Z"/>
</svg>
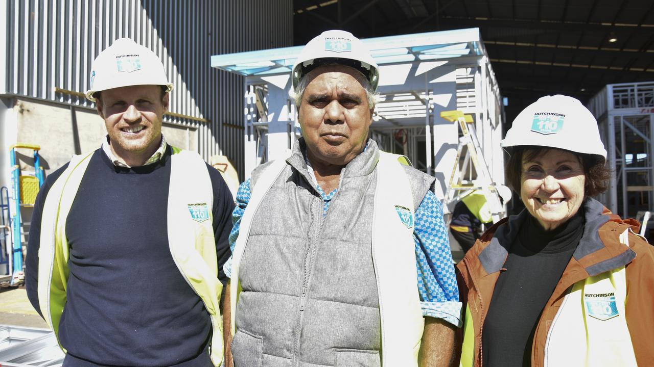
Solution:
<svg viewBox="0 0 654 367">
<path fill-rule="evenodd" d="M 95 102 L 95 92 L 150 84 L 166 86 L 166 93 L 173 89 L 154 52 L 131 39 L 117 39 L 95 57 L 86 98 Z"/>
</svg>

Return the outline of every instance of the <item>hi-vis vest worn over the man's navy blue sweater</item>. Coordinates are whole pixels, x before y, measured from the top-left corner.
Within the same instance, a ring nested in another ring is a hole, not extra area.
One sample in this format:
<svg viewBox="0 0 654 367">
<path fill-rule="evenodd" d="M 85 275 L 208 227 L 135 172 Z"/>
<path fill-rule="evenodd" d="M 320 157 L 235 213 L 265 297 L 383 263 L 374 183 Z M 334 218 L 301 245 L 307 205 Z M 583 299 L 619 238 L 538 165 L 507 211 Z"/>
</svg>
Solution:
<svg viewBox="0 0 654 367">
<path fill-rule="evenodd" d="M 57 338 L 69 277 L 66 218 L 93 153 L 75 155 L 71 159 L 48 191 L 43 207 L 39 304 L 44 319 Z M 209 220 L 201 223 L 194 221 L 188 210 L 188 204 L 200 202 L 207 203 L 209 211 Z M 173 148 L 167 211 L 169 249 L 182 276 L 203 300 L 211 316 L 211 361 L 219 366 L 223 358 L 222 319 L 218 308 L 222 284 L 218 280 L 212 206 L 213 188 L 205 161 L 198 153 Z M 194 241 L 189 238 L 194 238 Z M 63 347 L 61 349 L 65 352 Z"/>
</svg>

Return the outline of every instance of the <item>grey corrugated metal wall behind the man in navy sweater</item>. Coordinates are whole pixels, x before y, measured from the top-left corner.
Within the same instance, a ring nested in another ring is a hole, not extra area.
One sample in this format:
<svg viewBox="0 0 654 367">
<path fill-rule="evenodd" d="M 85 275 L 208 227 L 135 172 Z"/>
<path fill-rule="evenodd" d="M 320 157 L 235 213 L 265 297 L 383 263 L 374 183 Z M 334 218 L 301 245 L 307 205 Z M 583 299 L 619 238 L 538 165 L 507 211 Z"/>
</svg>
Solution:
<svg viewBox="0 0 654 367">
<path fill-rule="evenodd" d="M 228 155 L 243 177 L 243 78 L 215 54 L 292 44 L 292 0 L 8 0 L 7 93 L 83 106 L 91 63 L 120 37 L 152 49 L 169 80 L 166 119 L 198 129 L 199 153 Z"/>
</svg>

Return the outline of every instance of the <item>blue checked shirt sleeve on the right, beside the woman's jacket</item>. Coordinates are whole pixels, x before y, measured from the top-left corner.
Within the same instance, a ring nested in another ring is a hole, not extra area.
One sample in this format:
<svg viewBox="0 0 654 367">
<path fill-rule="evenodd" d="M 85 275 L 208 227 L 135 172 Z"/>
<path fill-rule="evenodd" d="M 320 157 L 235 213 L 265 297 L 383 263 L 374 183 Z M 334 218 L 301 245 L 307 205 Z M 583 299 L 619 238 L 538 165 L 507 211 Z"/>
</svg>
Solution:
<svg viewBox="0 0 654 367">
<path fill-rule="evenodd" d="M 422 315 L 461 327 L 461 302 L 443 207 L 428 191 L 415 211 L 415 258 Z"/>
</svg>

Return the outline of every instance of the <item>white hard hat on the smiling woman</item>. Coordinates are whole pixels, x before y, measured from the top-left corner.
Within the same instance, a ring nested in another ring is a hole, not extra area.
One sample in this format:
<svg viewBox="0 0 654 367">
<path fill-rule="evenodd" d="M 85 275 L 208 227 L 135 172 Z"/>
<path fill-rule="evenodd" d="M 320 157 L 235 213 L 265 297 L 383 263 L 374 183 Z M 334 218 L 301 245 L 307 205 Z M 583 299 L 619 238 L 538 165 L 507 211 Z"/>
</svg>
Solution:
<svg viewBox="0 0 654 367">
<path fill-rule="evenodd" d="M 566 95 L 547 95 L 527 106 L 500 146 L 546 146 L 598 155 L 606 161 L 597 120 L 581 102 Z"/>
</svg>

